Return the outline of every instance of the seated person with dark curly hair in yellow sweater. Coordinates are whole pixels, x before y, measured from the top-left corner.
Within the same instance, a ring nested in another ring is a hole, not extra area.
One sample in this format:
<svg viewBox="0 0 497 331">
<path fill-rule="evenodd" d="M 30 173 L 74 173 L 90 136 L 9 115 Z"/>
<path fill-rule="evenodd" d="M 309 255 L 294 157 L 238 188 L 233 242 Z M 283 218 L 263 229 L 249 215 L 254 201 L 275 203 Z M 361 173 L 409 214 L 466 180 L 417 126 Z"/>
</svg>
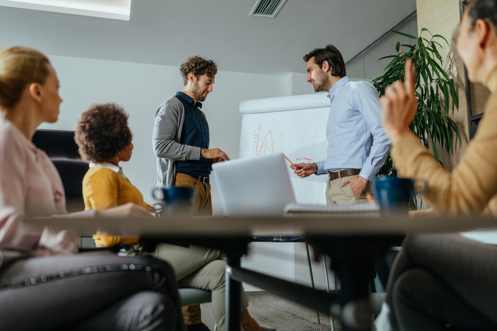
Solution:
<svg viewBox="0 0 497 331">
<path fill-rule="evenodd" d="M 152 213 L 155 208 L 146 203 L 141 192 L 131 184 L 119 162 L 129 161 L 133 151 L 128 115 L 114 104 L 94 104 L 84 111 L 78 122 L 75 140 L 89 170 L 83 178 L 85 209 L 104 210 L 128 202 L 145 206 Z M 97 232 L 93 238 L 97 246 L 138 244 L 137 237 L 118 237 Z M 163 244 L 156 256 L 167 261 L 174 270 L 180 287 L 193 287 L 212 292 L 212 308 L 219 331 L 225 323 L 225 265 L 226 257 L 218 250 L 200 247 L 178 247 Z M 261 327 L 248 314 L 248 301 L 242 293 L 242 326 L 246 331 L 275 331 Z M 189 310 L 183 309 L 185 322 L 192 321 Z M 200 312 L 200 307 L 195 310 Z M 196 323 L 187 324 L 189 331 L 208 331 L 199 316 Z"/>
</svg>

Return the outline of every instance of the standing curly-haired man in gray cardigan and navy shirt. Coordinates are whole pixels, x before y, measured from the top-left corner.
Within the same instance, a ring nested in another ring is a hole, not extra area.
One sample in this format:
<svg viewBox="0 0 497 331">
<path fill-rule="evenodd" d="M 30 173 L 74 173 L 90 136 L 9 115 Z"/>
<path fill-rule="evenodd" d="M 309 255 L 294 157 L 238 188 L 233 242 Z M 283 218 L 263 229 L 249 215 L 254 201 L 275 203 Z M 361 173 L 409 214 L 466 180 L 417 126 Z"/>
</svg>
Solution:
<svg viewBox="0 0 497 331">
<path fill-rule="evenodd" d="M 179 71 L 183 90 L 163 102 L 155 116 L 157 185 L 194 187 L 193 212 L 211 215 L 211 165 L 230 159 L 221 149 L 209 148 L 209 126 L 201 111 L 201 102 L 212 92 L 217 65 L 212 60 L 193 56 Z"/>
</svg>

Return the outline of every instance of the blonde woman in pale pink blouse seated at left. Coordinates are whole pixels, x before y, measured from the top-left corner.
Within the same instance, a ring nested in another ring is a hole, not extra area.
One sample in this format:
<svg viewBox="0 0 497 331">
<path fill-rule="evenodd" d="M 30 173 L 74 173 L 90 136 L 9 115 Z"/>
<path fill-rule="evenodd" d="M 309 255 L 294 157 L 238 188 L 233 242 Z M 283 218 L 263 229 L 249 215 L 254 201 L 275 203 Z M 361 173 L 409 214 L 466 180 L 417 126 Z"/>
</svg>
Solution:
<svg viewBox="0 0 497 331">
<path fill-rule="evenodd" d="M 77 254 L 75 234 L 23 222 L 52 215 L 147 215 L 135 204 L 67 214 L 60 176 L 31 142 L 41 123 L 57 121 L 58 89 L 57 74 L 40 52 L 0 52 L 0 331 L 182 330 L 176 281 L 166 262 Z"/>
</svg>

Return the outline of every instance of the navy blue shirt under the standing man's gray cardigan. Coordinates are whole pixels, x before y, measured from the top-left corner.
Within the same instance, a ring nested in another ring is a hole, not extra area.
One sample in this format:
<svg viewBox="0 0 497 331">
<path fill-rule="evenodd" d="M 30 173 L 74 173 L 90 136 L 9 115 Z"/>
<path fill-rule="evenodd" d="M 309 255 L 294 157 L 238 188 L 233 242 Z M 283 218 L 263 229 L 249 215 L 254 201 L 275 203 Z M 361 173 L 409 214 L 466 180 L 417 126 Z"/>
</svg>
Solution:
<svg viewBox="0 0 497 331">
<path fill-rule="evenodd" d="M 200 112 L 202 104 L 183 93 L 176 92 L 176 97 L 181 101 L 185 109 L 185 120 L 179 143 L 182 145 L 209 148 L 209 127 L 207 121 Z M 200 157 L 200 160 L 176 161 L 176 172 L 202 177 L 209 177 L 212 161 Z"/>
</svg>

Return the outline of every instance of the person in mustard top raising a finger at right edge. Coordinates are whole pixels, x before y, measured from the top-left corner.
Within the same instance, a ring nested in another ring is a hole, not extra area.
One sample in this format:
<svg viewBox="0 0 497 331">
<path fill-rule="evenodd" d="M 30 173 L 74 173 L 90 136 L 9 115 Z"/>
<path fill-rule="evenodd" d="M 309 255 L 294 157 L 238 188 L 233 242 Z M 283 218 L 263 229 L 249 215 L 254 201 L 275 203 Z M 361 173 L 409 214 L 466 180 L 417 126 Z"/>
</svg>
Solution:
<svg viewBox="0 0 497 331">
<path fill-rule="evenodd" d="M 416 113 L 413 64 L 381 98 L 383 126 L 399 174 L 424 178 L 434 212 L 497 216 L 497 6 L 473 0 L 465 8 L 457 51 L 468 77 L 492 92 L 466 154 L 447 173 L 408 127 Z M 496 222 L 497 224 L 497 222 Z M 497 244 L 497 238 L 493 240 Z M 397 257 L 377 330 L 497 330 L 497 246 L 459 234 L 410 236 Z"/>
</svg>

